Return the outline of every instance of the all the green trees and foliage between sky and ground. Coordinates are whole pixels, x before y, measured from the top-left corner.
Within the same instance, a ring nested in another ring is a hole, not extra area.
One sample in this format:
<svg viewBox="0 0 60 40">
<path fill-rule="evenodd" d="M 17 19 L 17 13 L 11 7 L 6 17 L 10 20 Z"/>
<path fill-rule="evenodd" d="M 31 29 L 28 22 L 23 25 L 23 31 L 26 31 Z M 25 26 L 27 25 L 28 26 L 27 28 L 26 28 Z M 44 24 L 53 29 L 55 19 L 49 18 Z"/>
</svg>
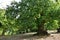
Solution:
<svg viewBox="0 0 60 40">
<path fill-rule="evenodd" d="M 59 27 L 59 0 L 14 1 L 6 9 L 0 9 L 0 35 L 28 32 L 46 35 L 47 30 L 56 30 Z"/>
</svg>

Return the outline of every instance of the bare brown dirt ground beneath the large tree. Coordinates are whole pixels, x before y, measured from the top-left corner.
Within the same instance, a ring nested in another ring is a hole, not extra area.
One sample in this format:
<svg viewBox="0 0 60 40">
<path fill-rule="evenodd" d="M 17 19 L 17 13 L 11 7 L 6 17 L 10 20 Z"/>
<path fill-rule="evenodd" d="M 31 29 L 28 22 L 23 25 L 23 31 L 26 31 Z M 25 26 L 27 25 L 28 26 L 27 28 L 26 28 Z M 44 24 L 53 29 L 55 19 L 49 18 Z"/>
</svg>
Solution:
<svg viewBox="0 0 60 40">
<path fill-rule="evenodd" d="M 36 32 L 12 35 L 12 36 L 0 36 L 0 40 L 60 40 L 60 33 L 56 31 L 49 31 L 50 36 L 33 36 Z"/>
</svg>

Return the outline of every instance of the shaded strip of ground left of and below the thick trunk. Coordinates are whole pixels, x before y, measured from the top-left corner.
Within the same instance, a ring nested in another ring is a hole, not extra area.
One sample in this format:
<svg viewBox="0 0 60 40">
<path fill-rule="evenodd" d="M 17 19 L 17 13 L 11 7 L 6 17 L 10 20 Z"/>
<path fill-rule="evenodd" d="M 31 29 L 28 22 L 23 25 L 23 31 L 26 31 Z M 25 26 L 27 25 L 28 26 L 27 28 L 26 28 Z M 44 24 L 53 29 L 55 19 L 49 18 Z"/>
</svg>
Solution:
<svg viewBox="0 0 60 40">
<path fill-rule="evenodd" d="M 35 34 L 35 33 L 34 33 Z M 1 40 L 34 40 L 40 38 L 46 38 L 48 36 L 33 36 L 34 34 L 20 34 L 20 35 L 12 35 L 12 36 L 1 36 Z"/>
</svg>

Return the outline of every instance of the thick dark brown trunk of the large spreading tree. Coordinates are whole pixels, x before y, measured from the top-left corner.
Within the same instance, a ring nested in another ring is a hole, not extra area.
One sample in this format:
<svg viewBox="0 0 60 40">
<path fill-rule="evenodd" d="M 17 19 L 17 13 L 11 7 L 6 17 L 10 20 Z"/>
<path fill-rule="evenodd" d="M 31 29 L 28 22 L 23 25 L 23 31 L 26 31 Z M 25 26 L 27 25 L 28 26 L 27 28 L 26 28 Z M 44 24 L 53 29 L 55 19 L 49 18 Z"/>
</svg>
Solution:
<svg viewBox="0 0 60 40">
<path fill-rule="evenodd" d="M 47 30 L 44 28 L 45 20 L 41 20 L 41 22 L 39 21 L 40 20 L 37 19 L 37 27 L 38 27 L 37 35 L 49 35 Z"/>
</svg>

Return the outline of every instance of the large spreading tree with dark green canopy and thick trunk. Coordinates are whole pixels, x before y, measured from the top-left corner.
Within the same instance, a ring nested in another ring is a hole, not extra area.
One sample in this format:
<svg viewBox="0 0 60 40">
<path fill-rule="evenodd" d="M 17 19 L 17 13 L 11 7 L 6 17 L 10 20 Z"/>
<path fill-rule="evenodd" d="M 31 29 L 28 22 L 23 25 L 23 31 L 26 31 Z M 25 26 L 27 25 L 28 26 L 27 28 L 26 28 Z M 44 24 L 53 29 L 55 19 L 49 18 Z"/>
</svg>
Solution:
<svg viewBox="0 0 60 40">
<path fill-rule="evenodd" d="M 12 2 L 6 9 L 7 20 L 18 27 L 29 28 L 36 26 L 38 35 L 46 35 L 45 23 L 59 20 L 60 3 L 52 0 L 21 0 Z"/>
</svg>

